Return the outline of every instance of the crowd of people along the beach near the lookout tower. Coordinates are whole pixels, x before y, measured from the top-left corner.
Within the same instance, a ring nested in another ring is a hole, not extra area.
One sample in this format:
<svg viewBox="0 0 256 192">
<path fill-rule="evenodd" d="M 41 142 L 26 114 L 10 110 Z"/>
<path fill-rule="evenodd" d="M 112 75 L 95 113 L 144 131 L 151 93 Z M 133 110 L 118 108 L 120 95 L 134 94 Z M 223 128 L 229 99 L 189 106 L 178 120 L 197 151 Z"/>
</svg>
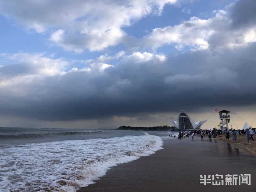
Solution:
<svg viewBox="0 0 256 192">
<path fill-rule="evenodd" d="M 205 139 L 205 135 L 207 135 L 209 137 L 209 139 L 211 139 L 212 137 L 215 139 L 218 135 L 225 135 L 226 137 L 226 141 L 229 141 L 229 138 L 232 137 L 232 141 L 233 142 L 237 142 L 237 135 L 246 135 L 246 139 L 247 139 L 247 143 L 251 144 L 251 141 L 254 141 L 253 135 L 256 134 L 256 130 L 253 129 L 246 129 L 246 130 L 235 130 L 235 129 L 230 129 L 229 131 L 223 131 L 223 130 L 195 130 L 195 131 L 183 131 L 183 132 L 179 132 L 178 134 L 178 139 L 183 139 L 183 138 L 189 138 L 189 136 L 191 135 L 191 139 L 192 141 L 194 141 L 194 137 L 195 135 L 197 136 L 201 136 L 201 140 Z M 172 137 L 172 135 L 169 135 L 170 137 Z M 174 137 L 176 137 L 174 135 Z"/>
</svg>

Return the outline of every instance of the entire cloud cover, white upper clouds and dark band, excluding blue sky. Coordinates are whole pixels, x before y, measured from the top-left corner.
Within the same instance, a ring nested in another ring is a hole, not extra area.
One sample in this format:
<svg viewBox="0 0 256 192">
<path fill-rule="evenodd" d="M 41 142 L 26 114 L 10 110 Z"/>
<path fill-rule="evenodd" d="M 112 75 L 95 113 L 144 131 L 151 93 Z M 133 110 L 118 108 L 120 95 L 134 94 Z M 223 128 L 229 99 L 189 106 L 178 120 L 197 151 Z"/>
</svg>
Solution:
<svg viewBox="0 0 256 192">
<path fill-rule="evenodd" d="M 254 1 L 236 1 L 213 11 L 208 19 L 191 17 L 175 26 L 152 29 L 140 39 L 128 37 L 122 27 L 181 1 L 61 2 L 0 1 L 0 13 L 27 30 L 48 33 L 54 45 L 75 53 L 104 50 L 127 38 L 136 51 L 103 51 L 84 60 L 2 53 L 0 115 L 42 121 L 121 121 L 134 114 L 157 119 L 156 113 L 181 109 L 203 112 L 220 105 L 256 104 Z M 158 53 L 166 45 L 177 52 Z"/>
</svg>

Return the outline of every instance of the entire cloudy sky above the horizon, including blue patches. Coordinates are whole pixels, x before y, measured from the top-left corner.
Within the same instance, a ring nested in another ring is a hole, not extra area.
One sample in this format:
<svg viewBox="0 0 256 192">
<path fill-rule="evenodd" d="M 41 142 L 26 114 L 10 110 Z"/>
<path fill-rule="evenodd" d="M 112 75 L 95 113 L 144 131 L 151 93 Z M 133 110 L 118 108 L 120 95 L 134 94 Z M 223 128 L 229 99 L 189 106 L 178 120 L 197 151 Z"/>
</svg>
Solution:
<svg viewBox="0 0 256 192">
<path fill-rule="evenodd" d="M 0 0 L 0 127 L 256 127 L 255 0 Z"/>
</svg>

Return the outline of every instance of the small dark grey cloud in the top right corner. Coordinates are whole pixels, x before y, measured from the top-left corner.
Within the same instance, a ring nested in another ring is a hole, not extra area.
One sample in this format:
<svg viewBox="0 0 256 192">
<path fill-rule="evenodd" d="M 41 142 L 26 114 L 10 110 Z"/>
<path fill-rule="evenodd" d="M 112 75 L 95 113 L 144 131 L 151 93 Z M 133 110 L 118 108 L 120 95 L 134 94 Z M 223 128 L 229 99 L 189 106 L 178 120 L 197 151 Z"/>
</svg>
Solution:
<svg viewBox="0 0 256 192">
<path fill-rule="evenodd" d="M 256 1 L 239 0 L 231 6 L 231 19 L 235 27 L 255 25 Z"/>
</svg>

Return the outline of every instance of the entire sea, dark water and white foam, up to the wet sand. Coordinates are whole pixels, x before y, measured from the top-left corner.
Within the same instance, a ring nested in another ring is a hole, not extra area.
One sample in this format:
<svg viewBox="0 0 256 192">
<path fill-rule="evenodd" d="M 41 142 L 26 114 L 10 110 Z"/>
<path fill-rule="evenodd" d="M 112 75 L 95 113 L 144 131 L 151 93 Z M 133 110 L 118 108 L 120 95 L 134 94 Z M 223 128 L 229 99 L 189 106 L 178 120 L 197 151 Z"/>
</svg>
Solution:
<svg viewBox="0 0 256 192">
<path fill-rule="evenodd" d="M 162 149 L 166 131 L 0 128 L 0 191 L 76 191 Z"/>
</svg>

